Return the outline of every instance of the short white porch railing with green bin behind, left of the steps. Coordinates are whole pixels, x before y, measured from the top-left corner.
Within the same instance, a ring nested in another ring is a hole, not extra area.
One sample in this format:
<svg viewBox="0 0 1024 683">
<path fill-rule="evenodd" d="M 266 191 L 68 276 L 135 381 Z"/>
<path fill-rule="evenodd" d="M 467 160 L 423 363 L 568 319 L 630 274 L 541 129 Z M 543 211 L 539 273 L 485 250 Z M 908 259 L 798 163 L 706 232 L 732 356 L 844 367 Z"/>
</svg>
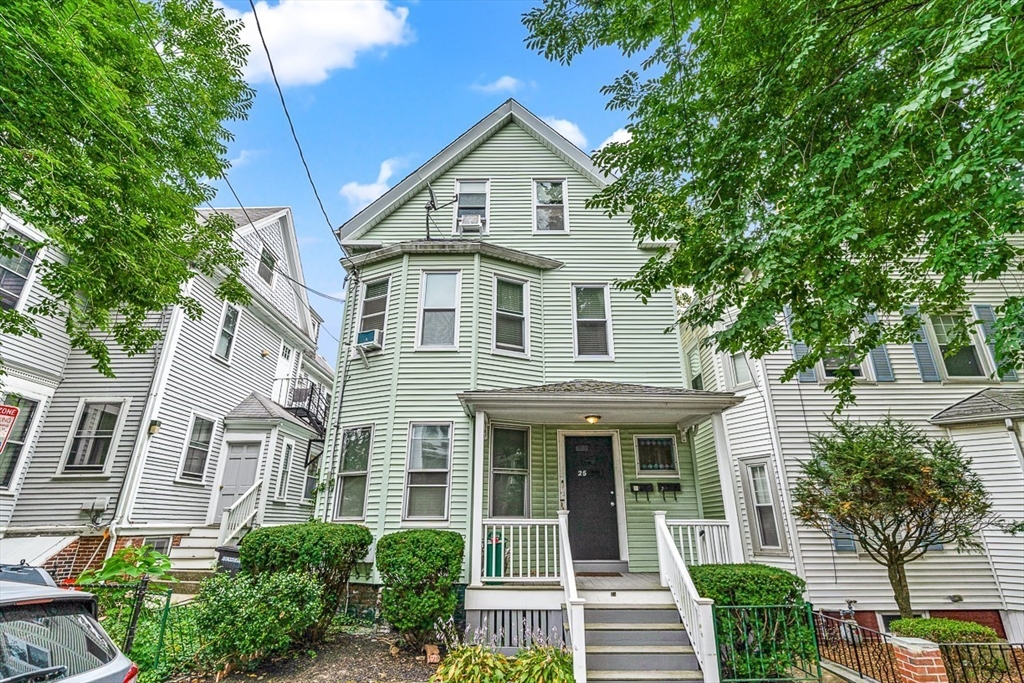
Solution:
<svg viewBox="0 0 1024 683">
<path fill-rule="evenodd" d="M 559 548 L 557 519 L 485 519 L 483 581 L 557 583 Z"/>
</svg>

